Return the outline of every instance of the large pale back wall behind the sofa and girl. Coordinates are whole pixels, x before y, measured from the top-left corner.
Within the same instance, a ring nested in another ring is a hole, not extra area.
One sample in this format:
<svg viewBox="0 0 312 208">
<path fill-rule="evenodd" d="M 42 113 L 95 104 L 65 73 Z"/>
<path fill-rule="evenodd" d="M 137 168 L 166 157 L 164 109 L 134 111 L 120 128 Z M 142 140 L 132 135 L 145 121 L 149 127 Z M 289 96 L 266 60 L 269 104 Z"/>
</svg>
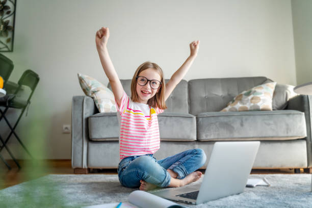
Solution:
<svg viewBox="0 0 312 208">
<path fill-rule="evenodd" d="M 34 124 L 46 131 L 22 137 L 46 144 L 41 158 L 71 157 L 71 138 L 62 134 L 62 125 L 71 123 L 72 96 L 83 95 L 77 72 L 108 83 L 95 49 L 101 26 L 110 28 L 108 48 L 120 79 L 131 79 L 147 60 L 170 78 L 189 56 L 190 42 L 199 39 L 186 80 L 267 76 L 296 85 L 290 0 L 23 0 L 17 1 L 15 21 L 14 52 L 3 53 L 15 64 L 10 80 L 17 82 L 28 68 L 41 79 L 17 133 Z M 9 146 L 14 150 L 14 139 Z M 27 158 L 21 152 L 17 158 Z"/>
</svg>

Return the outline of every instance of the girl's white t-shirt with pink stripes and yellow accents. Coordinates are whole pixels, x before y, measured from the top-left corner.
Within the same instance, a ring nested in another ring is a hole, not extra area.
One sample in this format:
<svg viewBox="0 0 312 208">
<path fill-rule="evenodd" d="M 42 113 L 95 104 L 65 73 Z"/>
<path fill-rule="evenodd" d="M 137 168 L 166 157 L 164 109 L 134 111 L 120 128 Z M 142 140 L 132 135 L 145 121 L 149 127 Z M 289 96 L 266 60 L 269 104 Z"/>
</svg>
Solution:
<svg viewBox="0 0 312 208">
<path fill-rule="evenodd" d="M 120 107 L 115 103 L 120 122 L 120 160 L 134 155 L 154 154 L 160 147 L 157 114 L 164 110 L 133 102 L 125 92 Z"/>
</svg>

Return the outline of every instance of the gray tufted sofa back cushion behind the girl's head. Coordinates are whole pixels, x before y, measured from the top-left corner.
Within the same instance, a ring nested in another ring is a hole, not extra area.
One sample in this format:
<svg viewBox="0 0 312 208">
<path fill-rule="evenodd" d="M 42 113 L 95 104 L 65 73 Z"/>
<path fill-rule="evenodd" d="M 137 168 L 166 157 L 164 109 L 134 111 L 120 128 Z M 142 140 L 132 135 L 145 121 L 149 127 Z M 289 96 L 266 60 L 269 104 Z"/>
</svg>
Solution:
<svg viewBox="0 0 312 208">
<path fill-rule="evenodd" d="M 131 96 L 131 81 L 132 80 L 120 80 L 121 85 L 127 95 Z M 165 80 L 167 83 L 169 80 Z M 108 88 L 112 89 L 110 83 Z M 179 84 L 174 88 L 168 99 L 166 100 L 167 109 L 165 112 L 170 113 L 189 113 L 188 103 L 188 82 L 181 80 Z"/>
</svg>

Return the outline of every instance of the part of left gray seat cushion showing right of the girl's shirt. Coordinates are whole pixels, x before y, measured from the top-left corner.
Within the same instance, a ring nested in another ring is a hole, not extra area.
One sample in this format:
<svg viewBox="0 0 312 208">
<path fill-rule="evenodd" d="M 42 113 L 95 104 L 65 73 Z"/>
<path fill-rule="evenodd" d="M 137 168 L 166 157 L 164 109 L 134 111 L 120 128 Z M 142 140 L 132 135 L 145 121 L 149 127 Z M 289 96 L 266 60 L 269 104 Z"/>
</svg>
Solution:
<svg viewBox="0 0 312 208">
<path fill-rule="evenodd" d="M 164 112 L 158 123 L 161 141 L 196 140 L 196 117 L 191 114 Z"/>
</svg>

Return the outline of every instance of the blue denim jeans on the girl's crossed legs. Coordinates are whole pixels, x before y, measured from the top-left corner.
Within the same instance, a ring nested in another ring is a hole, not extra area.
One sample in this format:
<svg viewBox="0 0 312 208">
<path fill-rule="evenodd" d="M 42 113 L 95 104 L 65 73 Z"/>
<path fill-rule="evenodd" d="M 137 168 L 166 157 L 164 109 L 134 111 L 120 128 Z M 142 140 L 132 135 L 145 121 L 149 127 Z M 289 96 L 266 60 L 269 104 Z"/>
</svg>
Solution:
<svg viewBox="0 0 312 208">
<path fill-rule="evenodd" d="M 167 187 L 171 176 L 167 169 L 177 173 L 178 179 L 202 167 L 206 154 L 202 149 L 190 149 L 163 160 L 157 161 L 153 154 L 132 156 L 122 159 L 118 164 L 118 178 L 122 186 L 138 188 L 140 180 L 158 187 Z"/>
</svg>

